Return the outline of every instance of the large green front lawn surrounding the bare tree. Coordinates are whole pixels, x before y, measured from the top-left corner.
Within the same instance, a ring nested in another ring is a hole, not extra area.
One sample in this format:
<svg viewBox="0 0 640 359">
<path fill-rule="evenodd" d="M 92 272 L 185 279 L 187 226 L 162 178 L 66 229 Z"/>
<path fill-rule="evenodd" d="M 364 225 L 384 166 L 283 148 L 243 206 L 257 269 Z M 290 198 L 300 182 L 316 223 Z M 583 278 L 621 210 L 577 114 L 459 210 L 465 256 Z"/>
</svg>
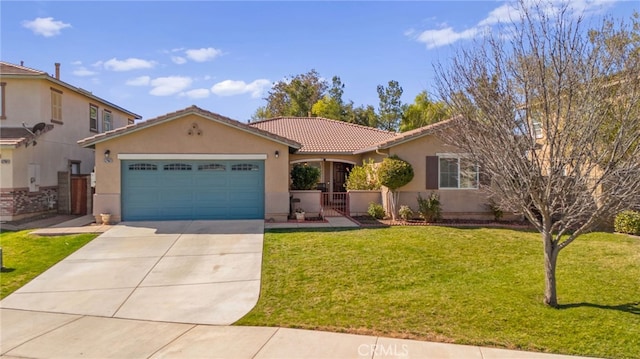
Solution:
<svg viewBox="0 0 640 359">
<path fill-rule="evenodd" d="M 527 231 L 268 231 L 260 300 L 237 324 L 640 357 L 640 240 L 594 233 L 563 250 L 560 309 L 542 304 L 542 262 Z"/>
</svg>

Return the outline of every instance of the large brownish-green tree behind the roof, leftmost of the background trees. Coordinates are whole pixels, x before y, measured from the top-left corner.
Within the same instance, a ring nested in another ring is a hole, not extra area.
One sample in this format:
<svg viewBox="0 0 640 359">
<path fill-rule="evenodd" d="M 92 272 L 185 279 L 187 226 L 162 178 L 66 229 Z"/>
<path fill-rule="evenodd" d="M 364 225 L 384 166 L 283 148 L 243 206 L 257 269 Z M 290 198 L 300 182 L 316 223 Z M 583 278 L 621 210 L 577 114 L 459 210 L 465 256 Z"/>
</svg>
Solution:
<svg viewBox="0 0 640 359">
<path fill-rule="evenodd" d="M 316 70 L 285 78 L 273 85 L 265 98 L 267 105 L 259 107 L 251 118 L 309 116 L 313 104 L 324 96 L 327 87 L 326 80 L 321 79 Z"/>
</svg>

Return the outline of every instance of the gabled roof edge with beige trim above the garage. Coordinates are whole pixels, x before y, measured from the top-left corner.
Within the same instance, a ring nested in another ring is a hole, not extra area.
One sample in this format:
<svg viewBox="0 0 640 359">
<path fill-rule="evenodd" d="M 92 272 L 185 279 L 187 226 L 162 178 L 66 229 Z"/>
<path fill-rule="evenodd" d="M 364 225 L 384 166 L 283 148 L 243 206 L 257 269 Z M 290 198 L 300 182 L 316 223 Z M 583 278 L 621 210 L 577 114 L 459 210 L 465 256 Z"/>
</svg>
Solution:
<svg viewBox="0 0 640 359">
<path fill-rule="evenodd" d="M 139 122 L 136 124 L 132 124 L 132 125 L 128 125 L 125 127 L 120 127 L 120 128 L 116 128 L 114 130 L 111 131 L 107 131 L 104 133 L 100 133 L 91 137 L 87 137 L 85 139 L 82 139 L 80 141 L 78 141 L 78 144 L 83 146 L 83 147 L 92 147 L 95 146 L 95 144 L 100 143 L 100 142 L 104 142 L 107 141 L 109 139 L 112 138 L 116 138 L 116 137 L 120 137 L 126 134 L 130 134 L 133 132 L 137 132 L 140 131 L 142 129 L 148 128 L 148 127 L 152 127 L 155 125 L 159 125 L 161 123 L 165 123 L 165 122 L 169 122 L 172 120 L 175 120 L 177 118 L 180 117 L 184 117 L 190 114 L 195 114 L 195 115 L 199 115 L 202 116 L 206 119 L 212 120 L 212 121 L 216 121 L 218 123 L 230 126 L 230 127 L 234 127 L 237 128 L 239 130 L 245 131 L 245 132 L 249 132 L 252 133 L 254 135 L 263 137 L 263 138 L 267 138 L 270 139 L 272 141 L 275 142 L 279 142 L 282 143 L 284 145 L 287 145 L 289 147 L 293 147 L 293 148 L 300 148 L 302 145 L 296 141 L 290 140 L 288 138 L 279 136 L 277 134 L 273 134 L 267 131 L 264 131 L 262 129 L 259 128 L 255 128 L 255 127 L 251 127 L 247 124 L 244 124 L 242 122 L 230 119 L 228 117 L 219 115 L 217 113 L 213 113 L 210 111 L 206 111 L 203 110 L 197 106 L 190 106 L 187 107 L 185 109 L 179 110 L 179 111 L 175 111 L 175 112 L 171 112 L 168 113 L 166 115 L 162 115 L 160 117 L 156 117 L 147 121 L 143 121 L 143 122 Z"/>
</svg>

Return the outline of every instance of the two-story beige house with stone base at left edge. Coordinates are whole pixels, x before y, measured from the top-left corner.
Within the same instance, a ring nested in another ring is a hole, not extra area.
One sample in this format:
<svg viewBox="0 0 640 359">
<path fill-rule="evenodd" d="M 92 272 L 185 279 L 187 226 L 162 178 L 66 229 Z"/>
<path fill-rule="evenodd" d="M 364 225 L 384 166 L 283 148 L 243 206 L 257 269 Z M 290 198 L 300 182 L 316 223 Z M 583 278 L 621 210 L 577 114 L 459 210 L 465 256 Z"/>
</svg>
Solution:
<svg viewBox="0 0 640 359">
<path fill-rule="evenodd" d="M 55 75 L 0 62 L 2 221 L 91 211 L 93 150 L 77 141 L 140 116 Z"/>
</svg>

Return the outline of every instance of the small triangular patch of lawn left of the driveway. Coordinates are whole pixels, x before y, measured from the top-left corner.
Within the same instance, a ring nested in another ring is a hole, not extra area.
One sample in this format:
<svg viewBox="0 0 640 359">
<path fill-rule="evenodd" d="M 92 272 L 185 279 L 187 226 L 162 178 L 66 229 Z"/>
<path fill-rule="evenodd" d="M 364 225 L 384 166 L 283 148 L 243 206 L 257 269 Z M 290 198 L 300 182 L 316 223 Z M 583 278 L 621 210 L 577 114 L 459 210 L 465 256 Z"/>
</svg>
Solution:
<svg viewBox="0 0 640 359">
<path fill-rule="evenodd" d="M 40 237 L 31 230 L 0 233 L 2 272 L 0 298 L 27 282 L 94 239 L 96 234 Z"/>
</svg>

